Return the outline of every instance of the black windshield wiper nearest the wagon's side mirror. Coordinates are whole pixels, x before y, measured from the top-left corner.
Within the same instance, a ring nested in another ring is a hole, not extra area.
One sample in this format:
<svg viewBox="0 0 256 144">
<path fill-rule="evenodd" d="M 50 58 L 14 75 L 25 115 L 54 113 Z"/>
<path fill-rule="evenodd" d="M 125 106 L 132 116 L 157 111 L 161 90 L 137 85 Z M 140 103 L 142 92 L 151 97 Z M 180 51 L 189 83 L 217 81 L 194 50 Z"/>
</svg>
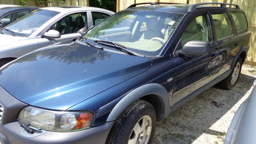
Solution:
<svg viewBox="0 0 256 144">
<path fill-rule="evenodd" d="M 125 46 L 121 45 L 121 44 L 116 44 L 114 42 L 110 42 L 110 41 L 106 41 L 106 40 L 94 40 L 94 42 L 97 42 L 98 44 L 104 44 L 104 45 L 107 45 L 107 46 L 112 46 L 118 50 L 123 50 L 125 51 L 126 53 L 130 54 L 130 55 L 134 55 L 134 56 L 145 56 L 145 55 L 142 55 L 142 54 L 138 54 L 132 50 L 129 50 L 128 48 L 126 48 Z"/>
</svg>

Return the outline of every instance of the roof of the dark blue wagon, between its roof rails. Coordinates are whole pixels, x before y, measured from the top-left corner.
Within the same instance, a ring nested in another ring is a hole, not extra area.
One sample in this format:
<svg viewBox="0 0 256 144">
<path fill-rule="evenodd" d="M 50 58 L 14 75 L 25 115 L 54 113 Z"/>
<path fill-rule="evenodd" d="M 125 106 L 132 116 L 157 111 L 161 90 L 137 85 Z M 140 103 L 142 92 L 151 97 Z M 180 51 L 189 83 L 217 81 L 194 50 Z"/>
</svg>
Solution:
<svg viewBox="0 0 256 144">
<path fill-rule="evenodd" d="M 127 8 L 126 10 L 147 10 L 147 11 L 174 12 L 179 14 L 186 14 L 188 13 L 190 6 L 191 4 L 154 4 L 154 5 L 148 5 L 148 6 L 131 7 L 131 8 Z M 197 9 L 198 8 L 223 9 L 220 6 L 209 6 L 209 5 L 196 6 L 196 8 Z M 235 8 L 232 8 L 232 9 L 235 9 Z"/>
</svg>

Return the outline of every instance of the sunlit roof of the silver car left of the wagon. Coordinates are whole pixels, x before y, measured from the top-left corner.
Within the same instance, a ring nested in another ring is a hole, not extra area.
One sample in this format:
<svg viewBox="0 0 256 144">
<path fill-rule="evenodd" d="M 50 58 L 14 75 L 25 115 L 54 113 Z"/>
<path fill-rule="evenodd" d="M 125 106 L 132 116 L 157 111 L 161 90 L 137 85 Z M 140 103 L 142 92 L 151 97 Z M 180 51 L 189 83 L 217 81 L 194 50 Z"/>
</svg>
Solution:
<svg viewBox="0 0 256 144">
<path fill-rule="evenodd" d="M 89 7 L 89 6 L 59 6 L 59 7 L 45 7 L 45 8 L 40 8 L 42 10 L 52 10 L 56 12 L 72 12 L 74 10 L 101 10 L 101 11 L 108 11 L 102 8 L 94 8 L 94 7 Z M 113 12 L 112 12 L 113 13 Z"/>
</svg>

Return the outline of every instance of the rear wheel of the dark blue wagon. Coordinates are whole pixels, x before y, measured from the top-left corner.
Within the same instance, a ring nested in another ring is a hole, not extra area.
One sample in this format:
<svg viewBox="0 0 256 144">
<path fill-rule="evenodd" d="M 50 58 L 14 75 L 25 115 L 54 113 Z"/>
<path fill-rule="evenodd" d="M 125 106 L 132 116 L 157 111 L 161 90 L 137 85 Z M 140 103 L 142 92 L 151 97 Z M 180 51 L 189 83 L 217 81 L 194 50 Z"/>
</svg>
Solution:
<svg viewBox="0 0 256 144">
<path fill-rule="evenodd" d="M 238 81 L 239 76 L 241 74 L 242 64 L 243 64 L 242 58 L 238 57 L 238 59 L 236 60 L 236 64 L 233 67 L 231 73 L 226 79 L 222 80 L 219 83 L 219 86 L 227 90 L 230 90 L 231 88 L 233 88 L 236 85 L 236 82 Z"/>
</svg>

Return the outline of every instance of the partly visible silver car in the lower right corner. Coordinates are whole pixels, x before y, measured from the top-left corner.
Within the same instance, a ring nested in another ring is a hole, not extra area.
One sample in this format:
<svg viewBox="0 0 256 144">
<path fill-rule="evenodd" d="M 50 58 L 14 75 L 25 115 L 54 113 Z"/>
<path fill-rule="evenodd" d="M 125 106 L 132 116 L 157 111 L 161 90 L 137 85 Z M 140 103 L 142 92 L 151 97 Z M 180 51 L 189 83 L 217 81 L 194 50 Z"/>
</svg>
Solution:
<svg viewBox="0 0 256 144">
<path fill-rule="evenodd" d="M 224 144 L 255 144 L 256 80 L 250 96 L 239 106 L 228 128 Z"/>
</svg>

